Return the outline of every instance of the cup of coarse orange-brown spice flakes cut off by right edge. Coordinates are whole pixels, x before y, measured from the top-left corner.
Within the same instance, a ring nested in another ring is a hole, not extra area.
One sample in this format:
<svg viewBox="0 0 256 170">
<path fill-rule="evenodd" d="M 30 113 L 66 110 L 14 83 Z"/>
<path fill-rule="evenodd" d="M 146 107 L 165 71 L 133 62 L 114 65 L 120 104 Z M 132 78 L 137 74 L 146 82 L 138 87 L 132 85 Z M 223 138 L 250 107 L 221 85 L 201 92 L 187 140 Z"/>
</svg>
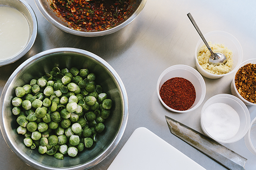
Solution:
<svg viewBox="0 0 256 170">
<path fill-rule="evenodd" d="M 244 61 L 231 82 L 231 93 L 247 106 L 256 106 L 256 59 Z"/>
</svg>

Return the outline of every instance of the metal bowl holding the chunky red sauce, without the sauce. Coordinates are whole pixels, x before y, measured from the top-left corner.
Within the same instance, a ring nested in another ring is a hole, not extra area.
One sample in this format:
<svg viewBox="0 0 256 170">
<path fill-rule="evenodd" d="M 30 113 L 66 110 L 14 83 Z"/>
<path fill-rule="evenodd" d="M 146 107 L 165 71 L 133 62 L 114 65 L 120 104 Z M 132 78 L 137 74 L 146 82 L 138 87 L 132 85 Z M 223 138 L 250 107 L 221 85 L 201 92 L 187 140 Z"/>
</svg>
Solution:
<svg viewBox="0 0 256 170">
<path fill-rule="evenodd" d="M 51 8 L 50 4 L 52 0 L 34 0 L 36 6 L 42 13 L 42 15 L 54 26 L 65 31 L 70 34 L 82 36 L 82 37 L 97 37 L 111 34 L 115 31 L 118 31 L 125 27 L 126 25 L 130 24 L 142 11 L 143 7 L 145 6 L 147 0 L 130 0 L 131 2 L 131 13 L 128 15 L 126 19 L 123 19 L 119 25 L 116 25 L 113 28 L 104 31 L 77 31 L 67 27 L 67 21 L 61 17 L 60 13 L 54 12 Z"/>
</svg>

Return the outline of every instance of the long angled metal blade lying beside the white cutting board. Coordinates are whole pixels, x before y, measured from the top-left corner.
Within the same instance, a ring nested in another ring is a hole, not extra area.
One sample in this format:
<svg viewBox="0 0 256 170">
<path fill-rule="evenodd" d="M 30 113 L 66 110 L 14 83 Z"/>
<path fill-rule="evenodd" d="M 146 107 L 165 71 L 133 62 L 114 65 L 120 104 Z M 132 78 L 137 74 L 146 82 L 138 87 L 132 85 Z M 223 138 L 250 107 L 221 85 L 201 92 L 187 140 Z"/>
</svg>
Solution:
<svg viewBox="0 0 256 170">
<path fill-rule="evenodd" d="M 215 140 L 165 116 L 171 133 L 230 170 L 244 170 L 247 159 Z"/>
</svg>

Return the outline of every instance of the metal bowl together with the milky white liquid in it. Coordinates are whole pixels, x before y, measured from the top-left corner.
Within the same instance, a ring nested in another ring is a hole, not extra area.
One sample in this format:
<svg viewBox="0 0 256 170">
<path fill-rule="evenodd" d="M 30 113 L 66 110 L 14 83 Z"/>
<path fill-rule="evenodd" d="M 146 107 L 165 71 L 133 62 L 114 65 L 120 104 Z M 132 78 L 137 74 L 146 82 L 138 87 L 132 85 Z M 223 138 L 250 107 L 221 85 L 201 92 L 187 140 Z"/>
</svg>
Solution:
<svg viewBox="0 0 256 170">
<path fill-rule="evenodd" d="M 0 66 L 23 57 L 34 44 L 37 19 L 25 0 L 0 0 Z"/>
</svg>

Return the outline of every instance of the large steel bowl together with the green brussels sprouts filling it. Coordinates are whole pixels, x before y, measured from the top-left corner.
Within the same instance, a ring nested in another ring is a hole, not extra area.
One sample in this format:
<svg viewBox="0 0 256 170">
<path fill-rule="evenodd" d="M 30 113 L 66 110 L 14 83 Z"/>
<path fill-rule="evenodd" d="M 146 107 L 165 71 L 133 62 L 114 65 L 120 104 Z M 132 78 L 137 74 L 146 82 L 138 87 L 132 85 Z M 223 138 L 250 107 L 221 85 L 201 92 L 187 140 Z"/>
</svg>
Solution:
<svg viewBox="0 0 256 170">
<path fill-rule="evenodd" d="M 128 97 L 115 70 L 85 50 L 56 48 L 22 63 L 0 98 L 9 148 L 40 170 L 88 169 L 121 140 Z"/>
</svg>

